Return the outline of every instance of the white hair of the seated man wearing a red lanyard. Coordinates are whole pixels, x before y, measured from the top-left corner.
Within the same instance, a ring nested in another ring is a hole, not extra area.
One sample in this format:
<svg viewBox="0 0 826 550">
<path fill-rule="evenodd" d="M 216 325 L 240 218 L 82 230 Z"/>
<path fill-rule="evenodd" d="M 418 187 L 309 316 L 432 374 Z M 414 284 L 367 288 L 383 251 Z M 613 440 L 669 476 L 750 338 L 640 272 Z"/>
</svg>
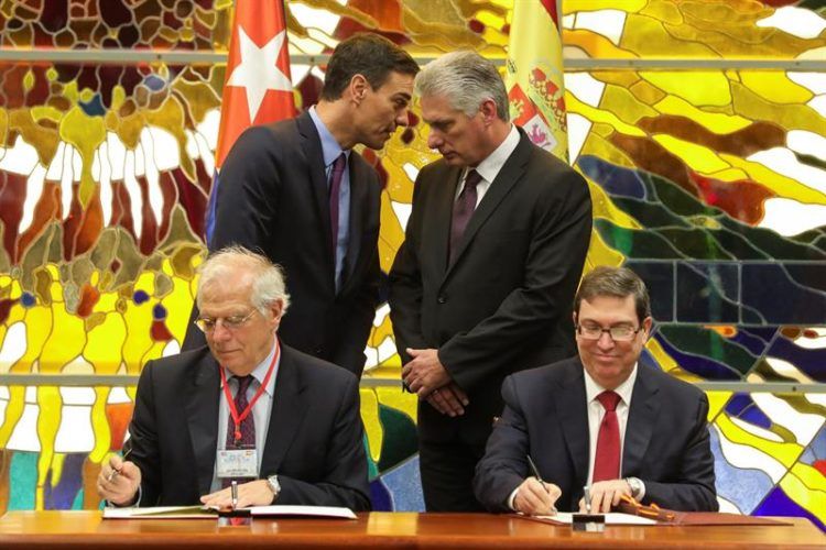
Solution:
<svg viewBox="0 0 826 550">
<path fill-rule="evenodd" d="M 284 305 L 282 312 L 286 312 L 290 307 L 290 295 L 286 293 L 284 283 L 284 270 L 272 263 L 269 257 L 237 244 L 213 252 L 198 267 L 200 274 L 198 307 L 200 307 L 202 289 L 211 284 L 236 284 L 236 280 L 228 280 L 228 278 L 238 267 L 243 267 L 244 272 L 252 277 L 252 296 L 250 297 L 252 307 L 265 314 L 272 304 L 281 300 Z"/>
</svg>

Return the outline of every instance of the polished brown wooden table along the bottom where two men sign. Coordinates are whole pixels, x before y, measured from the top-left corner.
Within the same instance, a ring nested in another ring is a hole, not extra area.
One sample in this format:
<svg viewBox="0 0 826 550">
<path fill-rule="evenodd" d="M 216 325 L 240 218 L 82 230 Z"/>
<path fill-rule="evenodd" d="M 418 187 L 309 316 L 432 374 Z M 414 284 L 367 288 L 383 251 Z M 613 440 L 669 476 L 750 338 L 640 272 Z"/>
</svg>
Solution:
<svg viewBox="0 0 826 550">
<path fill-rule="evenodd" d="M 357 520 L 217 519 L 104 521 L 99 512 L 10 512 L 0 518 L 0 548 L 826 548 L 805 519 L 781 526 L 608 526 L 575 532 L 515 516 L 360 514 Z"/>
</svg>

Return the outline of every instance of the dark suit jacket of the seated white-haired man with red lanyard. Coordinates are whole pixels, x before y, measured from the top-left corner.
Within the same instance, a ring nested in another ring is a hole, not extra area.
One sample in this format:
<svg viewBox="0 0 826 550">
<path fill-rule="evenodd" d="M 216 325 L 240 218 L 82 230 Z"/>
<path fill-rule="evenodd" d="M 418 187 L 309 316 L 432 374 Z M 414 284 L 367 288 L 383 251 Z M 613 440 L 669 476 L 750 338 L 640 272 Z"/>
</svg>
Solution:
<svg viewBox="0 0 826 550">
<path fill-rule="evenodd" d="M 141 506 L 193 505 L 209 493 L 220 374 L 209 350 L 150 361 L 129 427 Z M 260 477 L 278 474 L 278 504 L 370 508 L 358 380 L 286 345 Z"/>
</svg>

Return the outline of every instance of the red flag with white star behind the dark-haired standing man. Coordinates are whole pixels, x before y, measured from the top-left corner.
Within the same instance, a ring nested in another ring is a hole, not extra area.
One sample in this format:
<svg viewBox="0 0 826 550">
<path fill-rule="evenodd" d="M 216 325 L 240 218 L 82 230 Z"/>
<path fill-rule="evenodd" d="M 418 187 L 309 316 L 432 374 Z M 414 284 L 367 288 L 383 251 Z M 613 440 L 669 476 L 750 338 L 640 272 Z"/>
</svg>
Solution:
<svg viewBox="0 0 826 550">
<path fill-rule="evenodd" d="M 282 0 L 236 0 L 221 99 L 215 177 L 207 205 L 206 239 L 215 223 L 220 167 L 248 127 L 295 114 Z"/>
</svg>

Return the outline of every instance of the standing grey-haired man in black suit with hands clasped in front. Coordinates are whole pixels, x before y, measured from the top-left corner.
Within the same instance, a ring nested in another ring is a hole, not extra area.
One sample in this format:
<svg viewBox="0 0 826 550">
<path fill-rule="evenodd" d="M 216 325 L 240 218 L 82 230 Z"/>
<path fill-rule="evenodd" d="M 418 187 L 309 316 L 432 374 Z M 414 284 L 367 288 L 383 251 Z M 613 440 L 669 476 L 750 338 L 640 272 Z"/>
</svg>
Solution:
<svg viewBox="0 0 826 550">
<path fill-rule="evenodd" d="M 574 353 L 568 308 L 591 229 L 585 180 L 509 122 L 496 67 L 471 52 L 415 81 L 428 145 L 390 273 L 402 376 L 420 397 L 428 510 L 481 509 L 471 480 L 506 375 Z"/>
</svg>

